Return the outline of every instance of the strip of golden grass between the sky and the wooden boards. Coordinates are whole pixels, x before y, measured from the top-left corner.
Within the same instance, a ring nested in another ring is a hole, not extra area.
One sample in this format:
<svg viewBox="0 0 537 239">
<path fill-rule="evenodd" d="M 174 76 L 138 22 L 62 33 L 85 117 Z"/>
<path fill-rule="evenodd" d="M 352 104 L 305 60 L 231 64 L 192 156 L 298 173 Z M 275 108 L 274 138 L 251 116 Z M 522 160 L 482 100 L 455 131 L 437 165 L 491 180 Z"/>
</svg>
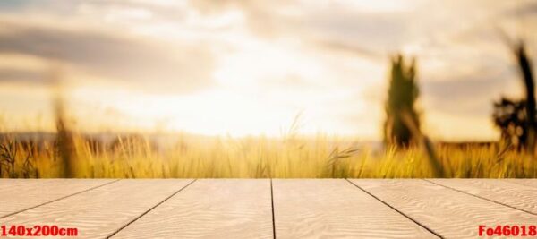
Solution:
<svg viewBox="0 0 537 239">
<path fill-rule="evenodd" d="M 173 146 L 152 147 L 147 138 L 120 139 L 115 146 L 91 146 L 74 136 L 74 177 L 81 178 L 405 178 L 431 177 L 427 152 L 420 148 L 371 149 L 326 136 L 306 139 L 207 138 L 178 135 Z M 58 147 L 0 142 L 1 177 L 61 177 Z M 436 145 L 447 177 L 535 177 L 533 158 L 496 144 Z"/>
</svg>

